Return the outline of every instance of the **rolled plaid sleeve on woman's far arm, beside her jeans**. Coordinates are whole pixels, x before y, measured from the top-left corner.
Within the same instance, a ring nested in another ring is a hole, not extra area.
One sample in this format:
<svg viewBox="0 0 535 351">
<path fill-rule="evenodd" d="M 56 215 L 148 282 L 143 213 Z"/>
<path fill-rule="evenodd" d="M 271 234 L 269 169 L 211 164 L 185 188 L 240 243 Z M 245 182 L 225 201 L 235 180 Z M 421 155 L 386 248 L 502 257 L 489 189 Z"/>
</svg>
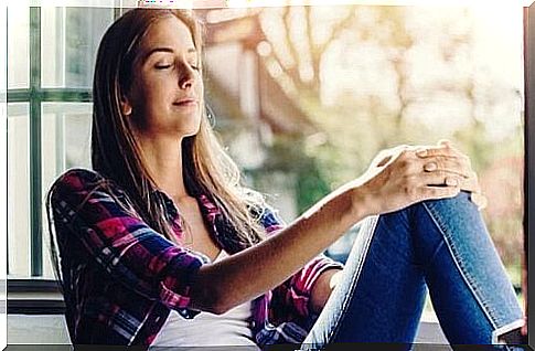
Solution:
<svg viewBox="0 0 535 351">
<path fill-rule="evenodd" d="M 261 223 L 268 236 L 274 235 L 286 226 L 286 223 L 272 209 L 264 211 Z M 320 254 L 276 287 L 271 291 L 270 320 L 277 323 L 278 321 L 291 321 L 311 317 L 312 310 L 310 309 L 309 300 L 312 287 L 320 275 L 331 268 L 342 269 L 343 265 L 324 254 Z"/>
</svg>

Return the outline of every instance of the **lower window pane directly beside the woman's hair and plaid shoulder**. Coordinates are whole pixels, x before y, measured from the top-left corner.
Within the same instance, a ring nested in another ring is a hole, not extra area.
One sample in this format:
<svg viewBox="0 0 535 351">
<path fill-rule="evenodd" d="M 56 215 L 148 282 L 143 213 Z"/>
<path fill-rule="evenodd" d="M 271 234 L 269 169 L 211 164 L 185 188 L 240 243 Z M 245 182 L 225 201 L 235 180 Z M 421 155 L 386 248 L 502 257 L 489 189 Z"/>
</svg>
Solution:
<svg viewBox="0 0 535 351">
<path fill-rule="evenodd" d="M 43 199 L 54 180 L 66 169 L 90 166 L 92 104 L 43 104 L 42 157 Z M 43 208 L 43 275 L 53 277 L 49 254 L 49 227 Z"/>
</svg>

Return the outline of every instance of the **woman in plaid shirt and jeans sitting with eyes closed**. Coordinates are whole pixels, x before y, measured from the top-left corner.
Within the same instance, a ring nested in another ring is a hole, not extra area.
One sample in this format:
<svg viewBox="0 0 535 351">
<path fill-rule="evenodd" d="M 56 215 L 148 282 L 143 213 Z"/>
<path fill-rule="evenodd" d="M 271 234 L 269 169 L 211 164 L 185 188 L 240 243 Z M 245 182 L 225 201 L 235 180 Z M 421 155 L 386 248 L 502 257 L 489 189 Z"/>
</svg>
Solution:
<svg viewBox="0 0 535 351">
<path fill-rule="evenodd" d="M 179 10 L 131 10 L 101 40 L 94 170 L 47 196 L 73 343 L 409 343 L 426 285 L 451 343 L 522 326 L 464 155 L 385 151 L 285 226 L 212 134 L 201 50 Z M 345 267 L 321 254 L 363 219 Z"/>
</svg>

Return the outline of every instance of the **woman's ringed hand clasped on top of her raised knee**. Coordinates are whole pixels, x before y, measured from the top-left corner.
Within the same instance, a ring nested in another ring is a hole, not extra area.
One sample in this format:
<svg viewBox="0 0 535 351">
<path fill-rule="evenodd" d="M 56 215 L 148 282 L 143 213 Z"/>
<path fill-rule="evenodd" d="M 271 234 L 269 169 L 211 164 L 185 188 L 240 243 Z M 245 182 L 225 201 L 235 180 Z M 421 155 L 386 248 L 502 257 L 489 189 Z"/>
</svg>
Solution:
<svg viewBox="0 0 535 351">
<path fill-rule="evenodd" d="M 382 151 L 357 182 L 357 193 L 371 214 L 452 198 L 461 190 L 480 193 L 470 159 L 448 141 L 437 147 L 402 146 Z"/>
</svg>

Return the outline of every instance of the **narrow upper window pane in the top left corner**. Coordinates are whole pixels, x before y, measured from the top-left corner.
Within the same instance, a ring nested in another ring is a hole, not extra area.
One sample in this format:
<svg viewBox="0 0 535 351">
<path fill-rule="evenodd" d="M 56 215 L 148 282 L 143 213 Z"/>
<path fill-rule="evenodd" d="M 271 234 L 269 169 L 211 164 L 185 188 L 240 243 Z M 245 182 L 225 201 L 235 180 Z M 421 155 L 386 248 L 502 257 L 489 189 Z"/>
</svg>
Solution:
<svg viewBox="0 0 535 351">
<path fill-rule="evenodd" d="M 8 8 L 8 88 L 29 86 L 30 8 Z"/>
</svg>

